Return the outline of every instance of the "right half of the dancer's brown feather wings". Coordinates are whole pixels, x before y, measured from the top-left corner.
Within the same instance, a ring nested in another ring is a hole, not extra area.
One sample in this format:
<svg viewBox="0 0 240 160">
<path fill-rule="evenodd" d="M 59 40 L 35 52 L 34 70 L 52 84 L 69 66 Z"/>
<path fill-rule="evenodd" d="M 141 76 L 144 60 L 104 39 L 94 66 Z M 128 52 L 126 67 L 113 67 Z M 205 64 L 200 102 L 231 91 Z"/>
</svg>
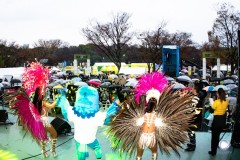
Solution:
<svg viewBox="0 0 240 160">
<path fill-rule="evenodd" d="M 173 150 L 180 156 L 178 148 L 188 139 L 186 131 L 194 116 L 190 92 L 172 92 L 166 87 L 160 96 L 156 108 L 157 118 L 163 122 L 162 126 L 156 129 L 156 139 L 161 152 L 170 154 Z"/>
</svg>

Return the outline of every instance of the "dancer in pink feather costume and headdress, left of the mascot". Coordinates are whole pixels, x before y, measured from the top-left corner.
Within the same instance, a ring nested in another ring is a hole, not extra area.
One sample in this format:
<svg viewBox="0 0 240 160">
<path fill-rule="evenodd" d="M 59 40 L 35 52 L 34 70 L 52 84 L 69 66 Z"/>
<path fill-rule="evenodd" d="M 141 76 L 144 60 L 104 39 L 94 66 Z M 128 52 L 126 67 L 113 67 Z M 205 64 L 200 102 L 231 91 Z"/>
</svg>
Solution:
<svg viewBox="0 0 240 160">
<path fill-rule="evenodd" d="M 13 93 L 6 93 L 5 99 L 32 137 L 42 147 L 42 154 L 46 158 L 46 142 L 49 141 L 47 132 L 51 134 L 52 154 L 56 153 L 57 132 L 48 121 L 48 110 L 55 107 L 56 102 L 46 101 L 45 92 L 48 85 L 49 70 L 39 62 L 33 62 L 25 68 L 22 75 L 22 88 Z"/>
</svg>

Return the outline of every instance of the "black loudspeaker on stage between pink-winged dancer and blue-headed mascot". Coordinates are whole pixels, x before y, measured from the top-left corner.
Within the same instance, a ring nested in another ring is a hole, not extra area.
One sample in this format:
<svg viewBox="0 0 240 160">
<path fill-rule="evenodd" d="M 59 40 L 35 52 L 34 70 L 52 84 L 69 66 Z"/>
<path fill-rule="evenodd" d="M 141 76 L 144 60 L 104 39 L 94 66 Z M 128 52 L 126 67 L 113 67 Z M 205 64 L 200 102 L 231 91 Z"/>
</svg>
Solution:
<svg viewBox="0 0 240 160">
<path fill-rule="evenodd" d="M 66 134 L 71 132 L 71 126 L 67 123 L 67 121 L 61 118 L 55 118 L 52 120 L 51 124 L 56 129 L 58 134 Z"/>
</svg>

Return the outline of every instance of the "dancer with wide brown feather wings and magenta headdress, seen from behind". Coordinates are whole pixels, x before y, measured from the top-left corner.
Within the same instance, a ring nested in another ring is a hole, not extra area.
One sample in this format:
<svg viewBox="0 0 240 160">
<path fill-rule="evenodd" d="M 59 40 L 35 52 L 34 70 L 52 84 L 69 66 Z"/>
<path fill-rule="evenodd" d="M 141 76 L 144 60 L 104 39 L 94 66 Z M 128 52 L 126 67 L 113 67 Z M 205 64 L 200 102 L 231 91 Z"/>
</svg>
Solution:
<svg viewBox="0 0 240 160">
<path fill-rule="evenodd" d="M 135 98 L 129 109 L 121 110 L 110 123 L 107 135 L 112 148 L 141 160 L 144 148 L 157 159 L 158 148 L 170 154 L 188 139 L 187 131 L 192 120 L 192 94 L 173 91 L 167 86 L 162 73 L 145 74 L 135 89 Z"/>
</svg>

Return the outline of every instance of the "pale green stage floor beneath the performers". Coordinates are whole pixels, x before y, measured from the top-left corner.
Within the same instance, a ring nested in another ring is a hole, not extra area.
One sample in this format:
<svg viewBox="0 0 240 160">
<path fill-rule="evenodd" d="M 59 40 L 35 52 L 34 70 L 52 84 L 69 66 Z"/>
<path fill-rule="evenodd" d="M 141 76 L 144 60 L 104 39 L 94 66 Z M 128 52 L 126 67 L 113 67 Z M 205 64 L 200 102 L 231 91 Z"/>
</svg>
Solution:
<svg viewBox="0 0 240 160">
<path fill-rule="evenodd" d="M 2 108 L 2 107 L 1 107 Z M 54 117 L 50 117 L 53 120 Z M 25 160 L 37 160 L 44 159 L 41 155 L 41 148 L 37 143 L 32 140 L 32 138 L 27 134 L 24 138 L 24 131 L 16 123 L 16 116 L 8 114 L 8 121 L 13 122 L 13 125 L 1 125 L 0 126 L 0 150 L 8 151 L 15 154 L 18 159 Z M 71 126 L 72 124 L 69 123 Z M 73 131 L 72 126 L 72 131 Z M 108 155 L 112 153 L 110 144 L 104 135 L 105 127 L 99 127 L 97 138 L 102 146 L 103 160 L 106 160 Z M 226 133 L 223 139 L 230 140 L 231 133 Z M 239 160 L 240 159 L 240 149 L 230 147 L 228 150 L 218 149 L 218 153 L 215 157 L 208 154 L 211 145 L 211 133 L 209 132 L 197 132 L 196 133 L 197 147 L 193 152 L 185 152 L 184 149 L 179 149 L 180 157 L 172 153 L 170 156 L 166 154 L 159 154 L 159 160 Z M 50 157 L 46 159 L 56 159 L 56 160 L 75 160 L 75 141 L 73 135 L 59 135 L 57 141 L 57 153 L 58 156 L 53 158 L 51 155 L 50 144 L 48 144 L 48 154 Z M 186 146 L 183 146 L 184 148 Z M 1 152 L 0 152 L 1 153 Z M 1 155 L 1 154 L 0 154 Z M 95 160 L 95 156 L 92 150 L 89 149 L 88 160 Z M 0 157 L 1 159 L 1 157 Z M 134 158 L 133 158 L 134 159 Z M 151 152 L 146 149 L 143 154 L 143 160 L 150 160 Z M 109 159 L 108 159 L 109 160 Z"/>
</svg>

